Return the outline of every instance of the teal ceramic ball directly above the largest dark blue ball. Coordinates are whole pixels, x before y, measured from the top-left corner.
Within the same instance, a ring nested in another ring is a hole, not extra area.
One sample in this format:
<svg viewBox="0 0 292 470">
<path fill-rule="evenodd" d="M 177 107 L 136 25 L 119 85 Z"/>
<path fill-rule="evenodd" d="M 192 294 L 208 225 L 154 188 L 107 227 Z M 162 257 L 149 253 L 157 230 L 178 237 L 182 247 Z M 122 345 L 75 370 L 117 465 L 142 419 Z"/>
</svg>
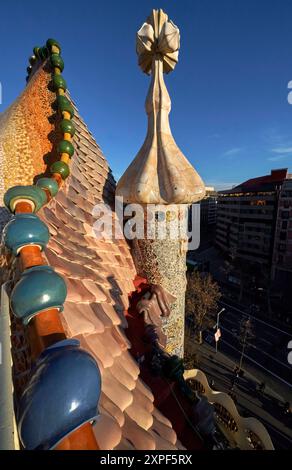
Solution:
<svg viewBox="0 0 292 470">
<path fill-rule="evenodd" d="M 51 266 L 34 266 L 21 274 L 14 286 L 11 309 L 27 325 L 32 317 L 49 308 L 63 310 L 67 287 Z"/>
</svg>

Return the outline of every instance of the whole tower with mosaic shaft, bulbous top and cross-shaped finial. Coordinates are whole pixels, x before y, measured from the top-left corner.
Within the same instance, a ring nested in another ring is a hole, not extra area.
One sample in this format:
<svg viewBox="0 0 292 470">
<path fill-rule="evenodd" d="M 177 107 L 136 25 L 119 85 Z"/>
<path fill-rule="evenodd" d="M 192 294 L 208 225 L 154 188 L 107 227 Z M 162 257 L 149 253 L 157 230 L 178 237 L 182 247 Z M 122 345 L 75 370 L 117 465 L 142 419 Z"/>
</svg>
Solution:
<svg viewBox="0 0 292 470">
<path fill-rule="evenodd" d="M 169 126 L 171 101 L 163 73 L 178 62 L 180 33 L 162 10 L 153 10 L 137 33 L 143 72 L 152 74 L 146 98 L 148 131 L 136 158 L 117 185 L 124 204 L 138 204 L 133 257 L 138 274 L 176 297 L 163 329 L 166 351 L 183 356 L 186 290 L 187 213 L 205 195 L 202 179 L 175 143 Z M 142 219 L 142 220 L 141 220 Z M 139 233 L 138 233 L 139 232 Z"/>
</svg>

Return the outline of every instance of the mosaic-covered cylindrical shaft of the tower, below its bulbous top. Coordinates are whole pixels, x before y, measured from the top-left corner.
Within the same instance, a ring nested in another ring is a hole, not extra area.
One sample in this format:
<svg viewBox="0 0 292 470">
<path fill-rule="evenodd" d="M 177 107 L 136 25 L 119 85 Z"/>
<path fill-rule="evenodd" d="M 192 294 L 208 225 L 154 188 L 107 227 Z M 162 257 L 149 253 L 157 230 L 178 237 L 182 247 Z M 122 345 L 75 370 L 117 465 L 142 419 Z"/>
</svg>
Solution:
<svg viewBox="0 0 292 470">
<path fill-rule="evenodd" d="M 145 233 L 151 238 L 136 238 L 132 242 L 139 275 L 146 277 L 149 283 L 161 285 L 176 298 L 171 304 L 170 316 L 163 319 L 163 332 L 167 336 L 166 351 L 180 357 L 184 345 L 187 210 L 185 204 L 175 209 L 173 205 L 160 206 L 152 220 L 145 213 Z"/>
</svg>

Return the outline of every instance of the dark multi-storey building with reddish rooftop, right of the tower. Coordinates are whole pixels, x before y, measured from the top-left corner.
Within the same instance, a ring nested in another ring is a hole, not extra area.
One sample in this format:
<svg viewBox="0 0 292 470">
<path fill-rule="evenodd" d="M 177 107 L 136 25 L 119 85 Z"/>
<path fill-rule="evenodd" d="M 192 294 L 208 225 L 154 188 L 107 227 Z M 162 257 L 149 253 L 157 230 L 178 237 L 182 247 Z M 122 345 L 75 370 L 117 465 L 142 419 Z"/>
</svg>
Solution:
<svg viewBox="0 0 292 470">
<path fill-rule="evenodd" d="M 231 259 L 247 262 L 255 273 L 266 278 L 271 277 L 275 229 L 283 212 L 279 212 L 278 205 L 288 177 L 287 169 L 275 169 L 270 175 L 252 178 L 232 189 L 220 191 L 218 196 L 216 245 Z M 288 212 L 284 210 L 285 221 Z M 276 245 L 280 253 L 281 247 L 281 243 Z M 278 256 L 277 260 L 280 262 L 281 257 Z"/>
</svg>

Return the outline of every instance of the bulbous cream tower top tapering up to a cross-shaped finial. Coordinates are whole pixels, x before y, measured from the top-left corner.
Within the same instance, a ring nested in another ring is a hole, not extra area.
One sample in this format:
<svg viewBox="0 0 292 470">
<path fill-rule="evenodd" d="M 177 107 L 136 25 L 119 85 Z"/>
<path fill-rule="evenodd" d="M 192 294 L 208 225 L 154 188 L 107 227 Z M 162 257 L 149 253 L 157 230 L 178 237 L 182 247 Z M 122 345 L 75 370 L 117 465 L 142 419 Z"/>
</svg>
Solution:
<svg viewBox="0 0 292 470">
<path fill-rule="evenodd" d="M 162 10 L 153 10 L 137 33 L 138 62 L 152 74 L 146 98 L 148 131 L 140 151 L 117 185 L 127 203 L 191 204 L 202 199 L 205 186 L 178 148 L 169 125 L 171 101 L 163 73 L 178 62 L 180 33 Z"/>
</svg>

